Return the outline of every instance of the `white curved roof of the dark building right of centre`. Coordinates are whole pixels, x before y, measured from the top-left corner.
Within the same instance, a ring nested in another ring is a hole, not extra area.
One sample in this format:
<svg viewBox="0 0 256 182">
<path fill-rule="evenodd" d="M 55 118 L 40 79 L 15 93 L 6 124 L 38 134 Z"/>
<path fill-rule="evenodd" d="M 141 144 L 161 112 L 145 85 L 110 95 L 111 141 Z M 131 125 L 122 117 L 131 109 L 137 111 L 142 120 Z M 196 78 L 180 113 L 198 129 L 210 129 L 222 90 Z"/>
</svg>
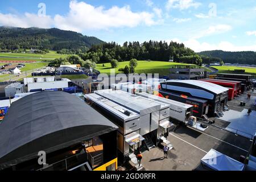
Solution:
<svg viewBox="0 0 256 182">
<path fill-rule="evenodd" d="M 198 86 L 200 88 L 207 89 L 210 92 L 213 92 L 213 93 L 216 93 L 216 94 L 220 94 L 222 92 L 228 91 L 228 89 L 226 89 L 223 86 L 212 84 L 210 82 L 199 81 L 199 80 L 167 80 L 167 82 L 180 82 L 180 83 L 183 83 L 183 84 L 195 85 L 195 86 Z"/>
</svg>

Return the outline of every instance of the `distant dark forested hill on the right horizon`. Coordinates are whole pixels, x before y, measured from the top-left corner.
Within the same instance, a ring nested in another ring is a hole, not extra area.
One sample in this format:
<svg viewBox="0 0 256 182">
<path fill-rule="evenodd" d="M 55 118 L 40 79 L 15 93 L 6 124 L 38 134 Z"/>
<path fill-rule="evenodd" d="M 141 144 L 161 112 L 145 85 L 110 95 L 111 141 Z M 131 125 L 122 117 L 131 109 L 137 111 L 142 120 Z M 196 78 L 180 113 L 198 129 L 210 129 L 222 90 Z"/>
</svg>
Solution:
<svg viewBox="0 0 256 182">
<path fill-rule="evenodd" d="M 218 57 L 224 63 L 239 63 L 239 64 L 256 64 L 256 52 L 227 52 L 227 51 L 203 51 L 199 52 L 201 56 Z"/>
</svg>

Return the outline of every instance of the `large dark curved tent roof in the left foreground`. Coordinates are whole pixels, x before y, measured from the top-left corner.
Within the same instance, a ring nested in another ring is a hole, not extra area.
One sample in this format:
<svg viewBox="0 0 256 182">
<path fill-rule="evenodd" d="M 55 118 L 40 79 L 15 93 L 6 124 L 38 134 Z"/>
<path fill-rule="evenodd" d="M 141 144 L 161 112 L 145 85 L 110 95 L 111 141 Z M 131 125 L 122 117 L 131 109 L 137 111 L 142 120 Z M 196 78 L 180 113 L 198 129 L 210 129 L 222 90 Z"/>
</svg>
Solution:
<svg viewBox="0 0 256 182">
<path fill-rule="evenodd" d="M 14 102 L 0 124 L 0 168 L 96 137 L 118 127 L 78 97 L 38 92 Z"/>
</svg>

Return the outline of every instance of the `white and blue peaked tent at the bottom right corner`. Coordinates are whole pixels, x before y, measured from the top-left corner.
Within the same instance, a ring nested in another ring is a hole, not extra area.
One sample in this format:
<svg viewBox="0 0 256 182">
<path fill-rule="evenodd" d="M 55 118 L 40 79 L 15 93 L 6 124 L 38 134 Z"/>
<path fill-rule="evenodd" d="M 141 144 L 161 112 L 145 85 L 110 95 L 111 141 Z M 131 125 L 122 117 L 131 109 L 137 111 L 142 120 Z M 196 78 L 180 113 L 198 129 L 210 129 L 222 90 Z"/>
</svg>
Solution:
<svg viewBox="0 0 256 182">
<path fill-rule="evenodd" d="M 238 162 L 218 152 L 211 149 L 202 159 L 201 163 L 216 171 L 242 171 L 245 164 Z"/>
</svg>

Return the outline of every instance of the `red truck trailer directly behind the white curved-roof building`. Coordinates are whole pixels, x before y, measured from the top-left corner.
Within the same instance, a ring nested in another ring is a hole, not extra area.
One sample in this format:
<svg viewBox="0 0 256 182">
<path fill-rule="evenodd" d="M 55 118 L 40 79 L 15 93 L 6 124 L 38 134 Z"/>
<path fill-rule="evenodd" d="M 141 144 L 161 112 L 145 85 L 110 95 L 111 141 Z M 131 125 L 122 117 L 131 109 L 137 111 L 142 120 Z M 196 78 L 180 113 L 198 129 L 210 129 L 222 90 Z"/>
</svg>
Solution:
<svg viewBox="0 0 256 182">
<path fill-rule="evenodd" d="M 206 81 L 206 82 L 210 82 L 212 84 L 216 84 L 216 85 L 220 85 L 220 86 L 223 86 L 225 88 L 232 88 L 233 89 L 233 92 L 232 90 L 229 90 L 228 92 L 228 100 L 232 100 L 235 96 L 238 95 L 238 92 L 237 92 L 237 84 L 236 83 L 233 83 L 233 82 L 224 82 L 224 81 L 217 81 L 215 79 L 202 79 L 200 81 Z M 229 95 L 230 94 L 230 95 Z"/>
</svg>

